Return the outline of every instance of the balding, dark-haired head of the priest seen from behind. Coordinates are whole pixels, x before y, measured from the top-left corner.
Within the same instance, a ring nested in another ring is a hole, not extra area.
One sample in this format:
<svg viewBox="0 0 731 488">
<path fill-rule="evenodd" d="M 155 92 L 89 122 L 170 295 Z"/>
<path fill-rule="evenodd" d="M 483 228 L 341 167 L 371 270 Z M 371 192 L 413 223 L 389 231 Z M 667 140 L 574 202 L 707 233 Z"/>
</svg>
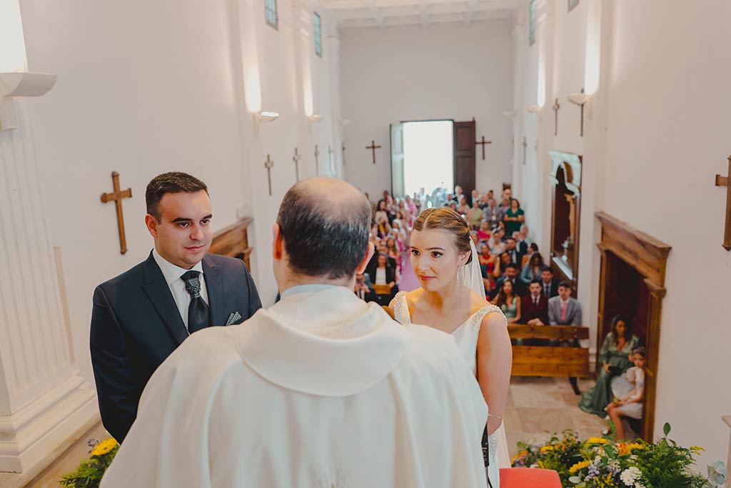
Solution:
<svg viewBox="0 0 731 488">
<path fill-rule="evenodd" d="M 280 292 L 295 285 L 353 287 L 374 249 L 368 243 L 371 206 L 359 189 L 334 178 L 290 188 L 274 225 L 274 276 Z"/>
</svg>

